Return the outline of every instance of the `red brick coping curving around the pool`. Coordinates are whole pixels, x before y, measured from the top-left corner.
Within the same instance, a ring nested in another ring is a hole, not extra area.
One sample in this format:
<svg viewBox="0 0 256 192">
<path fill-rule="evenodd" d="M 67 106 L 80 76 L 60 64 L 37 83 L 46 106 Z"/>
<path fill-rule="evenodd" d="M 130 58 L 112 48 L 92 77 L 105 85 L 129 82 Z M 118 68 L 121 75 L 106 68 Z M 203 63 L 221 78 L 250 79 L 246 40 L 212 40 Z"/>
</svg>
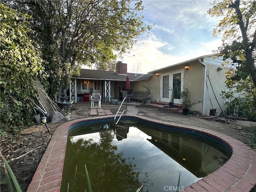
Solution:
<svg viewBox="0 0 256 192">
<path fill-rule="evenodd" d="M 232 156 L 223 166 L 201 180 L 198 180 L 196 183 L 184 188 L 184 191 L 252 192 L 256 190 L 256 152 L 246 144 L 230 136 L 205 128 L 164 122 L 139 115 L 125 116 L 204 133 L 223 141 L 232 149 Z M 70 126 L 86 120 L 104 118 L 113 118 L 114 120 L 114 115 L 81 118 L 65 122 L 58 126 L 28 186 L 27 192 L 60 192 L 68 130 Z"/>
</svg>

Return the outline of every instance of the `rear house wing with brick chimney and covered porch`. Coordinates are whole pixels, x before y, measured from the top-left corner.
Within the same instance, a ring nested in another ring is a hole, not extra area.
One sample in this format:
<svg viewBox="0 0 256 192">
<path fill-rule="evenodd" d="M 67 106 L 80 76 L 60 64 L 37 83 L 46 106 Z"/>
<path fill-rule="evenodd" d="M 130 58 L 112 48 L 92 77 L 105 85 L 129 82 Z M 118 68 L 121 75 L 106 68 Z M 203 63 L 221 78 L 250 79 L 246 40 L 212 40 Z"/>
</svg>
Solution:
<svg viewBox="0 0 256 192">
<path fill-rule="evenodd" d="M 129 76 L 131 89 L 142 89 L 142 86 L 135 86 L 136 82 L 146 80 L 152 76 L 148 74 L 136 74 L 127 72 L 127 64 L 116 63 L 116 71 L 82 69 L 80 76 L 73 76 L 69 85 L 70 101 L 90 101 L 92 92 L 98 92 L 102 100 L 110 102 L 112 98 L 119 98 L 120 87 L 126 84 L 126 77 Z"/>
</svg>

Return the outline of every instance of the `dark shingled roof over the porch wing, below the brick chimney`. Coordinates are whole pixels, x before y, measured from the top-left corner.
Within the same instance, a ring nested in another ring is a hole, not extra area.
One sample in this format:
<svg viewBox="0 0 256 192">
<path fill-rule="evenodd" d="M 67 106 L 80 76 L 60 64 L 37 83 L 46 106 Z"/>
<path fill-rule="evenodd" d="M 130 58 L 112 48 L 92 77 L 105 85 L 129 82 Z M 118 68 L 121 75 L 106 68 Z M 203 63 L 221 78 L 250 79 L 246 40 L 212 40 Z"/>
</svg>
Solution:
<svg viewBox="0 0 256 192">
<path fill-rule="evenodd" d="M 92 70 L 92 69 L 81 69 L 80 76 L 73 76 L 73 78 L 86 78 L 86 79 L 97 79 L 97 80 L 115 80 L 115 81 L 126 81 L 126 76 L 129 76 L 130 81 L 146 80 L 152 73 L 148 74 L 116 74 L 115 71 L 104 71 L 104 70 Z"/>
</svg>

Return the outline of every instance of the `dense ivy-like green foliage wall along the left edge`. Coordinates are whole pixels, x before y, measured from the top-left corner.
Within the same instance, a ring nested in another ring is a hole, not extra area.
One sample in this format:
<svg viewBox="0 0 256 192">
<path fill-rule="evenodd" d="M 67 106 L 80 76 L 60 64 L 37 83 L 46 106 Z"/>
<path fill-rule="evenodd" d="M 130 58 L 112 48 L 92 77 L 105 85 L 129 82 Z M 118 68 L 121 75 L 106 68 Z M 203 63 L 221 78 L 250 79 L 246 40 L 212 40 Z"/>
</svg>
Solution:
<svg viewBox="0 0 256 192">
<path fill-rule="evenodd" d="M 43 77 L 41 53 L 27 34 L 27 14 L 1 6 L 1 129 L 17 132 L 31 123 L 30 97 L 36 93 L 34 80 Z"/>
</svg>

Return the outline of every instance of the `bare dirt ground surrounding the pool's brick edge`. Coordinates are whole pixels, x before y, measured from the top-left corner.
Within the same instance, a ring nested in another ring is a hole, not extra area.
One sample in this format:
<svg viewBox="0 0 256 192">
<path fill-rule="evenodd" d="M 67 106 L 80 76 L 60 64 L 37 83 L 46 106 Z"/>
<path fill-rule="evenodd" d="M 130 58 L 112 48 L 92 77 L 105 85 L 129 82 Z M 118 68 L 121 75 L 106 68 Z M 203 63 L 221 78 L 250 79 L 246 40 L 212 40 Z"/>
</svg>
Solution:
<svg viewBox="0 0 256 192">
<path fill-rule="evenodd" d="M 110 110 L 112 114 L 116 114 L 119 106 L 107 106 L 102 105 L 102 109 Z M 229 124 L 224 122 L 216 122 L 213 120 L 205 120 L 198 118 L 198 114 L 190 114 L 189 116 L 183 116 L 177 112 L 170 112 L 168 110 L 154 108 L 150 106 L 136 106 L 139 112 L 145 114 L 144 116 L 154 118 L 158 120 L 164 120 L 168 122 L 176 122 L 186 125 L 198 126 L 216 132 L 220 132 L 236 138 L 244 143 L 248 142 L 248 132 L 239 126 L 236 122 L 229 121 Z M 90 104 L 74 104 L 67 115 L 70 120 L 90 117 Z M 1 137 L 0 151 L 9 162 L 14 175 L 18 179 L 18 182 L 25 192 L 30 184 L 34 172 L 46 150 L 48 143 L 52 137 L 54 130 L 65 121 L 58 123 L 49 123 L 48 127 L 51 133 L 48 133 L 45 125 L 35 124 L 33 128 L 38 128 L 39 132 L 35 134 L 8 134 Z M 3 161 L 1 159 L 1 181 L 5 178 Z M 8 188 L 6 184 L 1 184 L 0 190 L 7 192 Z"/>
</svg>

